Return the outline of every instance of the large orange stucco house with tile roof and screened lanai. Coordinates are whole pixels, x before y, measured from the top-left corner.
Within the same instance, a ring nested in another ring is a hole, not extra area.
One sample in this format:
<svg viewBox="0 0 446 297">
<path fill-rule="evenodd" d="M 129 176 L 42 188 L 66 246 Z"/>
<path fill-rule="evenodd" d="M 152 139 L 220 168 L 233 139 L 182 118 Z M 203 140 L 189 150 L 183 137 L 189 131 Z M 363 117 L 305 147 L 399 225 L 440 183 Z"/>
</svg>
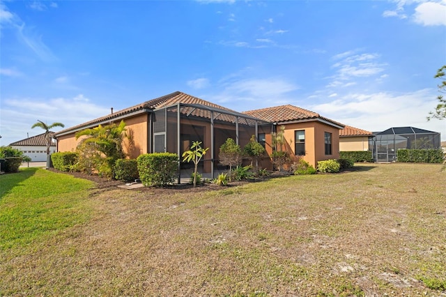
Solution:
<svg viewBox="0 0 446 297">
<path fill-rule="evenodd" d="M 81 141 L 75 135 L 81 130 L 120 121 L 126 123 L 129 137 L 124 139 L 123 146 L 130 158 L 164 151 L 182 155 L 192 142 L 199 141 L 209 148 L 199 170 L 211 177 L 219 166 L 220 146 L 228 138 L 243 147 L 256 135 L 271 153 L 272 132 L 285 125 L 286 139 L 293 142 L 290 151 L 298 148 L 299 155 L 316 165 L 318 160 L 339 158 L 338 130 L 344 128 L 340 123 L 291 105 L 240 113 L 176 91 L 56 132 L 57 151 L 74 151 Z M 180 162 L 178 166 L 189 169 L 191 165 Z M 269 158 L 261 166 L 272 169 Z"/>
</svg>

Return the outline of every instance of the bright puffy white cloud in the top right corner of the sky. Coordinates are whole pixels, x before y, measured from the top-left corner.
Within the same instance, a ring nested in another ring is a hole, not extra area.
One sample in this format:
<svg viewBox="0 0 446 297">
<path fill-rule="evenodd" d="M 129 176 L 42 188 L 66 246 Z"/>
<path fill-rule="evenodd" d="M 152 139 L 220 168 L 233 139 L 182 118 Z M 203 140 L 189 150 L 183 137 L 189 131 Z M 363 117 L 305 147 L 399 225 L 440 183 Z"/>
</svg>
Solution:
<svg viewBox="0 0 446 297">
<path fill-rule="evenodd" d="M 415 8 L 415 22 L 423 26 L 446 26 L 446 5 L 426 2 Z"/>
</svg>

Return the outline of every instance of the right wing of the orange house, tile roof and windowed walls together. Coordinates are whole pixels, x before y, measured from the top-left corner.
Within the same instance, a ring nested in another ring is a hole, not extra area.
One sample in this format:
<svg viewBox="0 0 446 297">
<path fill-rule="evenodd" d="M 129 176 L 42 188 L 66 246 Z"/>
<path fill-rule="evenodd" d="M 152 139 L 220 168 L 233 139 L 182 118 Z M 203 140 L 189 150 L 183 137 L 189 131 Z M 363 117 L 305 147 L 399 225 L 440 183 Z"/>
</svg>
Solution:
<svg viewBox="0 0 446 297">
<path fill-rule="evenodd" d="M 293 105 L 256 109 L 244 114 L 272 123 L 273 132 L 279 132 L 283 125 L 286 149 L 294 159 L 303 158 L 315 168 L 318 161 L 339 159 L 339 130 L 344 128 L 341 123 Z M 266 142 L 271 144 L 270 135 L 266 136 Z M 271 146 L 266 150 L 272 153 Z"/>
</svg>

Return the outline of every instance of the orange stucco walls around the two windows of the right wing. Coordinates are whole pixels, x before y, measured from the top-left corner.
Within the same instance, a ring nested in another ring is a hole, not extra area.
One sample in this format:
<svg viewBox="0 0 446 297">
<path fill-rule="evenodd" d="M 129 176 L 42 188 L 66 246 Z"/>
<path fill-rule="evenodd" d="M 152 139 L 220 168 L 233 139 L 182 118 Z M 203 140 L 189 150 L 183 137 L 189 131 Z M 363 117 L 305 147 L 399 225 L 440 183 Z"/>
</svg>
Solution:
<svg viewBox="0 0 446 297">
<path fill-rule="evenodd" d="M 280 126 L 277 126 L 279 130 Z M 321 160 L 339 158 L 339 129 L 319 122 L 293 123 L 285 125 L 285 139 L 287 150 L 291 155 L 295 155 L 294 142 L 295 130 L 305 130 L 305 161 L 317 167 L 317 162 Z M 325 132 L 332 133 L 332 155 L 325 155 Z"/>
</svg>

